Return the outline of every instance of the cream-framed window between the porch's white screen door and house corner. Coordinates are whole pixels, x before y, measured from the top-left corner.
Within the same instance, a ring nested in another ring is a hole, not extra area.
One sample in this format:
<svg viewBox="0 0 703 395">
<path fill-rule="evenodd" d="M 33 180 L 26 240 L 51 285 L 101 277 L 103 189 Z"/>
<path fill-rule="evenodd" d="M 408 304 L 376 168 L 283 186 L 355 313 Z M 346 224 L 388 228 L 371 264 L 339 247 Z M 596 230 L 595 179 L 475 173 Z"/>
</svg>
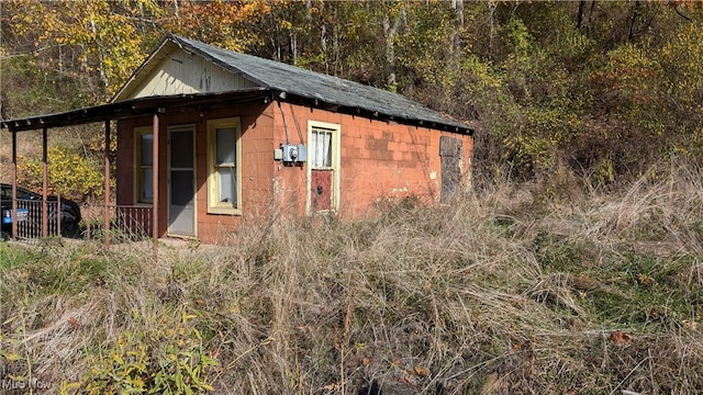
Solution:
<svg viewBox="0 0 703 395">
<path fill-rule="evenodd" d="M 239 119 L 208 121 L 208 212 L 241 214 Z"/>
</svg>

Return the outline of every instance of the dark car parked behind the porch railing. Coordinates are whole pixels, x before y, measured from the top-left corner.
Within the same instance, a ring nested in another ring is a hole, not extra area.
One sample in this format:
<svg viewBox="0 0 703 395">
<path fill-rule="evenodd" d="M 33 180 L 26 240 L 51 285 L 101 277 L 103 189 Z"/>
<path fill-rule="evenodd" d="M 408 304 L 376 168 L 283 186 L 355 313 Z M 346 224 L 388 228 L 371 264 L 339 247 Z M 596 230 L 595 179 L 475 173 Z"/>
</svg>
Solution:
<svg viewBox="0 0 703 395">
<path fill-rule="evenodd" d="M 42 224 L 42 195 L 24 188 L 16 189 L 18 191 L 18 226 L 20 224 L 26 225 L 23 228 L 31 228 L 33 235 L 41 235 Z M 46 198 L 48 204 L 48 221 L 56 224 L 58 221 L 56 215 L 56 201 L 58 198 L 51 195 Z M 53 204 L 52 204 L 53 203 Z M 12 222 L 14 221 L 12 215 L 12 185 L 0 184 L 0 214 L 1 214 L 1 233 L 11 235 Z M 72 236 L 78 230 L 78 224 L 80 223 L 80 207 L 78 204 L 69 199 L 62 198 L 60 204 L 60 226 L 63 236 Z M 49 225 L 51 226 L 51 225 Z M 56 225 L 54 225 L 55 228 Z"/>
</svg>

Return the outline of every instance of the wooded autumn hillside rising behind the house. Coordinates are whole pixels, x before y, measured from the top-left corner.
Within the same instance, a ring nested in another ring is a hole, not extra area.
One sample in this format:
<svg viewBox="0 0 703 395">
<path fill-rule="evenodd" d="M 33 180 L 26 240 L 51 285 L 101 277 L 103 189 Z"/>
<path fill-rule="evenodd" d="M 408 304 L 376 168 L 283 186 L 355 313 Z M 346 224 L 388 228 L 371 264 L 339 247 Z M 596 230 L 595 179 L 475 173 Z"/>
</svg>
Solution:
<svg viewBox="0 0 703 395">
<path fill-rule="evenodd" d="M 567 170 L 611 185 L 703 161 L 702 4 L 1 1 L 1 115 L 104 103 L 171 32 L 470 122 L 477 182 Z"/>
</svg>

